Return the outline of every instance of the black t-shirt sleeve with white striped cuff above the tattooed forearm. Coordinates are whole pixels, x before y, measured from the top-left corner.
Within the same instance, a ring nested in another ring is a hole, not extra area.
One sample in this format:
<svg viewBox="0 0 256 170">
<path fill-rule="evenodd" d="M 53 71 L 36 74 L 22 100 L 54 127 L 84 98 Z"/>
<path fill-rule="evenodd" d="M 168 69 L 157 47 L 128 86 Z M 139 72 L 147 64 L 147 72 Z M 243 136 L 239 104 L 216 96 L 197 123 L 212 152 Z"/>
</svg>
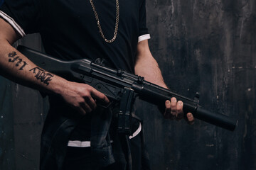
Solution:
<svg viewBox="0 0 256 170">
<path fill-rule="evenodd" d="M 41 23 L 39 0 L 0 0 L 0 16 L 24 36 L 38 33 Z"/>
</svg>

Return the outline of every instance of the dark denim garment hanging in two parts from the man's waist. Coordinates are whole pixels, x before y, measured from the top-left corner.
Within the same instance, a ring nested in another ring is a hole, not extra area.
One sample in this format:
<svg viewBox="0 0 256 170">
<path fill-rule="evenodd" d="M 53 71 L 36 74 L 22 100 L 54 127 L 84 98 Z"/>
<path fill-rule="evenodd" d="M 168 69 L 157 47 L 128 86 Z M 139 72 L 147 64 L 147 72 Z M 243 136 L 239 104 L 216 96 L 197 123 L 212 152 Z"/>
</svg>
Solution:
<svg viewBox="0 0 256 170">
<path fill-rule="evenodd" d="M 114 163 L 109 135 L 112 112 L 99 108 L 87 117 L 91 120 L 92 164 L 100 167 Z M 62 169 L 70 134 L 82 120 L 72 108 L 60 105 L 60 100 L 50 100 L 41 135 L 41 170 Z"/>
</svg>

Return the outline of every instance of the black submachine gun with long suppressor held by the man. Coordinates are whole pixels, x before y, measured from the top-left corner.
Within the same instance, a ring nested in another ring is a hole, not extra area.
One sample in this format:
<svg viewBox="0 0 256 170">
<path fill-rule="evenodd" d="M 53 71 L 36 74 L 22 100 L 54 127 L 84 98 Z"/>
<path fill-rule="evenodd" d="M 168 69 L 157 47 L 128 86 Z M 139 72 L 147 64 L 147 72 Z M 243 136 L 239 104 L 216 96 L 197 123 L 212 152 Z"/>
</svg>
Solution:
<svg viewBox="0 0 256 170">
<path fill-rule="evenodd" d="M 191 112 L 194 118 L 217 125 L 227 130 L 235 130 L 237 120 L 220 113 L 211 113 L 199 106 L 199 94 L 194 99 L 186 98 L 122 69 L 111 69 L 90 60 L 63 61 L 50 55 L 18 46 L 17 50 L 28 57 L 33 63 L 46 69 L 48 72 L 71 81 L 88 84 L 105 94 L 112 101 L 120 102 L 118 114 L 118 131 L 129 135 L 131 133 L 130 121 L 132 118 L 132 104 L 134 98 L 139 96 L 144 101 L 161 106 L 166 100 L 176 97 L 183 101 L 184 113 Z"/>
</svg>

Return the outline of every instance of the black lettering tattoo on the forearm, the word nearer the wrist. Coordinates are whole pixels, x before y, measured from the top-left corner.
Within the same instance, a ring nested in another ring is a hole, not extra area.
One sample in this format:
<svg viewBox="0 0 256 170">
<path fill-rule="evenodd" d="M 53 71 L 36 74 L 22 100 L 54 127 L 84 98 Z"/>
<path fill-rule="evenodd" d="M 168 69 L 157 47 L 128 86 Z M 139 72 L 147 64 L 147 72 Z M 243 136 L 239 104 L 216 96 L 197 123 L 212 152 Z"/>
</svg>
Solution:
<svg viewBox="0 0 256 170">
<path fill-rule="evenodd" d="M 49 85 L 49 81 L 51 81 L 53 74 L 50 74 L 48 72 L 46 72 L 46 70 L 43 70 L 39 67 L 35 67 L 31 70 L 29 70 L 29 72 L 33 72 L 33 74 L 36 74 L 36 79 L 40 80 L 43 84 L 46 84 L 47 86 Z"/>
</svg>

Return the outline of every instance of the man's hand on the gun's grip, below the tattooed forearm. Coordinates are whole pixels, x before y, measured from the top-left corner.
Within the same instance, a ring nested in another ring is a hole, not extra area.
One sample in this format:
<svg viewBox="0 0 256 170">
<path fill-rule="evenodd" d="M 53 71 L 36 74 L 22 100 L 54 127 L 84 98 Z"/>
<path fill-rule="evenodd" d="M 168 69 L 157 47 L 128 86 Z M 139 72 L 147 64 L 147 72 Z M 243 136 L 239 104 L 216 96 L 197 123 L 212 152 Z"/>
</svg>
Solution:
<svg viewBox="0 0 256 170">
<path fill-rule="evenodd" d="M 95 110 L 97 106 L 96 101 L 108 105 L 110 100 L 97 91 L 92 86 L 87 84 L 80 84 L 72 81 L 68 81 L 63 90 L 60 91 L 60 96 L 63 97 L 66 103 L 75 108 L 80 114 L 85 115 Z"/>
</svg>

